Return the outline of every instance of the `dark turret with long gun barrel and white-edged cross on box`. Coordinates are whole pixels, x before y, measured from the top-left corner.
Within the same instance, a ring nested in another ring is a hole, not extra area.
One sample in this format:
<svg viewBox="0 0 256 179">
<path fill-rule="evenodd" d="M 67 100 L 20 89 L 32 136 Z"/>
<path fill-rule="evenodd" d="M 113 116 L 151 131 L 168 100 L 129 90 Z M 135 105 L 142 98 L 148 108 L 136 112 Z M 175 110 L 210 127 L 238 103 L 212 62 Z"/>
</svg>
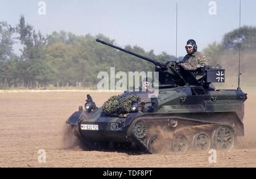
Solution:
<svg viewBox="0 0 256 179">
<path fill-rule="evenodd" d="M 225 81 L 225 70 L 221 69 L 221 66 L 205 66 L 203 68 L 197 69 L 195 72 L 185 71 L 176 61 L 168 61 L 167 63 L 162 63 L 150 59 L 148 57 L 139 55 L 137 53 L 128 51 L 126 49 L 117 47 L 115 45 L 109 44 L 100 39 L 96 39 L 97 42 L 100 42 L 104 45 L 108 45 L 119 51 L 129 53 L 130 55 L 139 57 L 140 59 L 149 61 L 155 65 L 155 72 L 159 72 L 159 88 L 168 88 L 175 86 L 203 86 L 208 88 L 211 82 L 224 82 Z M 200 79 L 196 79 L 196 75 L 201 76 Z"/>
</svg>

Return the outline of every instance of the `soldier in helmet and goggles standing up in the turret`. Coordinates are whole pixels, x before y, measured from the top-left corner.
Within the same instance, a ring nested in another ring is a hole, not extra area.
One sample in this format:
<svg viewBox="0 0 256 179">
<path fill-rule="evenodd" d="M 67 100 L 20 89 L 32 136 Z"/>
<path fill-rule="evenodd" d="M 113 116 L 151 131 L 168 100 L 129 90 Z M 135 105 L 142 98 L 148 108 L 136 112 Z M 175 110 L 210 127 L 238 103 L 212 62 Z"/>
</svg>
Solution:
<svg viewBox="0 0 256 179">
<path fill-rule="evenodd" d="M 180 63 L 180 66 L 182 66 L 184 70 L 196 70 L 197 68 L 208 65 L 205 56 L 197 51 L 195 40 L 189 39 L 187 41 L 187 45 L 185 45 L 185 49 L 188 54 L 185 55 L 184 59 Z"/>
</svg>

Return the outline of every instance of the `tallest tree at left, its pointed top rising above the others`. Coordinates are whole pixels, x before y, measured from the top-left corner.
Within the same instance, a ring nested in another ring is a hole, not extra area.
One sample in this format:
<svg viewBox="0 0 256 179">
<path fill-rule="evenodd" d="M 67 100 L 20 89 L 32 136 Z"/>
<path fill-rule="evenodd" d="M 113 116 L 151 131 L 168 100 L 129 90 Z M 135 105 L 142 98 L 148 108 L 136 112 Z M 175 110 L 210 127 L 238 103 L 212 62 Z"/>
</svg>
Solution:
<svg viewBox="0 0 256 179">
<path fill-rule="evenodd" d="M 22 80 L 30 88 L 46 86 L 51 79 L 50 66 L 45 61 L 46 38 L 40 32 L 36 33 L 30 24 L 26 24 L 24 16 L 20 16 L 16 32 L 18 32 L 20 43 L 23 45 L 20 57 Z"/>
</svg>

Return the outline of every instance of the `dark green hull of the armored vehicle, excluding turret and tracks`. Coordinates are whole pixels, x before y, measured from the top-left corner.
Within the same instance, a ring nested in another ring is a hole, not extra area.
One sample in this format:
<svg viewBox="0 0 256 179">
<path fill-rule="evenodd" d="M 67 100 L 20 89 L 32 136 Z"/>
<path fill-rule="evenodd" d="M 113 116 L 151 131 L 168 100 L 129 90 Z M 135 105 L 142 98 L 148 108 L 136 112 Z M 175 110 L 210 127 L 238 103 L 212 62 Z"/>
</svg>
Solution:
<svg viewBox="0 0 256 179">
<path fill-rule="evenodd" d="M 149 99 L 147 93 L 135 92 L 144 100 Z M 126 92 L 122 95 L 129 94 L 134 94 L 134 92 Z M 185 101 L 183 102 L 182 99 L 184 100 L 184 98 Z M 150 105 L 147 107 L 146 113 L 131 113 L 127 118 L 119 118 L 114 115 L 102 114 L 102 108 L 100 107 L 92 113 L 77 111 L 67 120 L 67 123 L 73 126 L 98 124 L 98 131 L 81 130 L 81 126 L 79 127 L 82 136 L 97 141 L 131 141 L 127 128 L 137 118 L 152 118 L 154 120 L 187 119 L 202 124 L 227 124 L 228 126 L 234 126 L 237 136 L 243 136 L 242 122 L 245 99 L 246 94 L 241 90 L 206 91 L 198 87 L 160 89 L 158 109 L 154 110 Z M 82 118 L 82 112 L 86 118 Z M 117 124 L 117 130 L 113 130 L 113 124 Z"/>
</svg>

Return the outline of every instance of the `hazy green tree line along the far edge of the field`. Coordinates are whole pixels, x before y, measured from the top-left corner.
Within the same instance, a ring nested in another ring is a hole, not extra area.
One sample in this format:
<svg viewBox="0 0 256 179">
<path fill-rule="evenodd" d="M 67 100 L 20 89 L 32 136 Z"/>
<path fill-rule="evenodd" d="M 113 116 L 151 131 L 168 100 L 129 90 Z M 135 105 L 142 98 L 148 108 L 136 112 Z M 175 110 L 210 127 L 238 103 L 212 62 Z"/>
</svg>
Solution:
<svg viewBox="0 0 256 179">
<path fill-rule="evenodd" d="M 137 57 L 96 42 L 102 39 L 115 44 L 114 39 L 98 34 L 75 35 L 71 32 L 52 32 L 42 35 L 20 16 L 15 27 L 0 22 L 0 88 L 47 88 L 53 86 L 94 86 L 100 80 L 97 74 L 116 71 L 152 71 L 154 65 Z M 224 35 L 221 44 L 210 44 L 204 50 L 211 63 L 218 62 L 224 51 L 256 48 L 256 28 L 242 27 Z M 20 55 L 14 53 L 14 44 L 21 45 Z M 145 51 L 138 46 L 126 45 L 129 51 L 166 62 L 175 56 L 162 52 Z M 179 57 L 178 60 L 181 60 Z"/>
</svg>

